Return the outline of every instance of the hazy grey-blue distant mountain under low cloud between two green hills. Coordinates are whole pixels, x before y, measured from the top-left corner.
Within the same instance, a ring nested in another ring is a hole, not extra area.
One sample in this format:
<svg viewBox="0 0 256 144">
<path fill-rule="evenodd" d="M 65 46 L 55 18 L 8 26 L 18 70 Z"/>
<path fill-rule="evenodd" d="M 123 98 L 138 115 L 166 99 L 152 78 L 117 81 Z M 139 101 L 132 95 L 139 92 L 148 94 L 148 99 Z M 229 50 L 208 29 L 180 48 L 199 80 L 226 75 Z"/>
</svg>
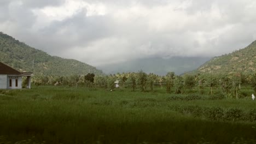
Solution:
<svg viewBox="0 0 256 144">
<path fill-rule="evenodd" d="M 138 72 L 143 70 L 146 73 L 154 73 L 157 75 L 166 75 L 173 71 L 180 75 L 186 71 L 198 68 L 201 64 L 211 59 L 210 57 L 171 57 L 171 58 L 143 58 L 133 61 L 108 64 L 97 67 L 102 69 L 106 74 L 116 74 L 123 72 Z"/>
</svg>

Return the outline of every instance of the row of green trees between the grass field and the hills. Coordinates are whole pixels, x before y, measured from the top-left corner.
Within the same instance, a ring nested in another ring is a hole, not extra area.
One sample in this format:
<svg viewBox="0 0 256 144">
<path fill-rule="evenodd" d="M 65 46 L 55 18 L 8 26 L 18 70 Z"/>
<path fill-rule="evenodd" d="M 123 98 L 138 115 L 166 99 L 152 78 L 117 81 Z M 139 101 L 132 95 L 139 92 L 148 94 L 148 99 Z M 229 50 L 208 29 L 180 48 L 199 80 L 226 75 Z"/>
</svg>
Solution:
<svg viewBox="0 0 256 144">
<path fill-rule="evenodd" d="M 71 76 L 45 76 L 39 74 L 32 77 L 34 85 L 61 85 L 84 86 L 90 88 L 114 89 L 115 81 L 119 81 L 120 88 L 130 88 L 132 91 L 153 92 L 154 88 L 165 88 L 167 93 L 183 94 L 188 90 L 196 89 L 204 93 L 206 89 L 212 95 L 214 91 L 221 91 L 228 97 L 239 98 L 241 85 L 251 85 L 256 91 L 256 74 L 187 74 L 175 75 L 173 72 L 165 76 L 146 74 L 142 70 L 137 73 L 117 73 L 110 75 L 86 75 Z M 209 90 L 210 89 L 210 90 Z"/>
</svg>

